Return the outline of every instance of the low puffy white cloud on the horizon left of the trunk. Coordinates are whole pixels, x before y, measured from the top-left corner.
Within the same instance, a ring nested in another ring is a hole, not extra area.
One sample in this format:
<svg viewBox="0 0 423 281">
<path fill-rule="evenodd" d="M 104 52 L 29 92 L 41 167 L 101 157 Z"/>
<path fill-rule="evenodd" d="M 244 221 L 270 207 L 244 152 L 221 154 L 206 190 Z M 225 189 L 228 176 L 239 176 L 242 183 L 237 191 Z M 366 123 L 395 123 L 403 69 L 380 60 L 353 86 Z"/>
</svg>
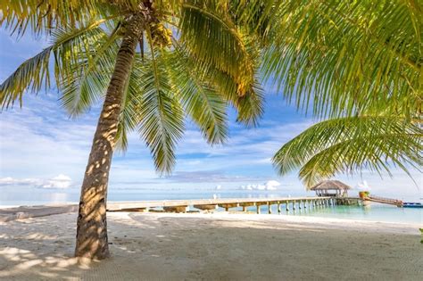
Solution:
<svg viewBox="0 0 423 281">
<path fill-rule="evenodd" d="M 0 186 L 30 186 L 36 188 L 69 188 L 72 180 L 69 176 L 58 175 L 54 178 L 0 178 Z"/>
</svg>

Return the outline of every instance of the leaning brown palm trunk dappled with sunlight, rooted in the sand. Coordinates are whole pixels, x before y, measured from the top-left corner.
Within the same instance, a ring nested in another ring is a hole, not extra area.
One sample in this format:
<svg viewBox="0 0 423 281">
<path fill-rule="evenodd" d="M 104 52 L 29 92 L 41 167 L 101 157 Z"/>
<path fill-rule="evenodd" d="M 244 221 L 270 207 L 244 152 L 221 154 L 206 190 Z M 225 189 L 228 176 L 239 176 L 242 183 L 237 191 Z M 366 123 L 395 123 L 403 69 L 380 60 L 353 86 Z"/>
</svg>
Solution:
<svg viewBox="0 0 423 281">
<path fill-rule="evenodd" d="M 106 202 L 109 170 L 118 129 L 123 91 L 135 58 L 141 28 L 127 28 L 117 54 L 87 163 L 79 200 L 76 257 L 102 260 L 110 256 L 107 240 Z"/>
</svg>

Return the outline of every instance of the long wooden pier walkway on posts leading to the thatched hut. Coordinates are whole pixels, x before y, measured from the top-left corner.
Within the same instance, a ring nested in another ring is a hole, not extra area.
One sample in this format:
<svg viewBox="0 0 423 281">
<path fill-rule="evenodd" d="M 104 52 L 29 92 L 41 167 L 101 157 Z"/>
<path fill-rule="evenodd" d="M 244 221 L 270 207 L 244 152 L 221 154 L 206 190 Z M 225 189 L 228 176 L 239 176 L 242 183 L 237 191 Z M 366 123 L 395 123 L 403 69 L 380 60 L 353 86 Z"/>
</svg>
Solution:
<svg viewBox="0 0 423 281">
<path fill-rule="evenodd" d="M 317 208 L 336 205 L 335 197 L 279 197 L 279 198 L 225 198 L 225 199 L 193 199 L 193 200 L 162 200 L 162 201 L 137 201 L 137 202 L 108 202 L 107 211 L 150 211 L 164 210 L 186 212 L 191 208 L 212 211 L 223 208 L 225 211 L 233 208 L 255 207 L 255 211 L 261 213 L 261 206 L 267 206 L 268 212 L 272 212 L 272 206 L 281 212 L 295 211 L 307 208 Z"/>
</svg>

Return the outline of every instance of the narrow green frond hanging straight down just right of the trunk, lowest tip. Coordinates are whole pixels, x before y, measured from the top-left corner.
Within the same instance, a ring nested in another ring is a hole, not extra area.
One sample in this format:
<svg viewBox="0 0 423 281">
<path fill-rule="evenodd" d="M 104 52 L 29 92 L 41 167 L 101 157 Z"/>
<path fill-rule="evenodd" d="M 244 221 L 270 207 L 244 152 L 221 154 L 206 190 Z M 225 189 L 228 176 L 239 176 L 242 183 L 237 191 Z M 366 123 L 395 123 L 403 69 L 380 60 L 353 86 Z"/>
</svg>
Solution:
<svg viewBox="0 0 423 281">
<path fill-rule="evenodd" d="M 149 35 L 151 56 L 145 58 L 139 80 L 142 95 L 139 132 L 150 148 L 156 169 L 170 173 L 175 165 L 175 147 L 183 135 L 184 113 L 173 91 L 161 54 L 155 53 Z M 139 67 L 139 66 L 136 66 Z"/>
</svg>

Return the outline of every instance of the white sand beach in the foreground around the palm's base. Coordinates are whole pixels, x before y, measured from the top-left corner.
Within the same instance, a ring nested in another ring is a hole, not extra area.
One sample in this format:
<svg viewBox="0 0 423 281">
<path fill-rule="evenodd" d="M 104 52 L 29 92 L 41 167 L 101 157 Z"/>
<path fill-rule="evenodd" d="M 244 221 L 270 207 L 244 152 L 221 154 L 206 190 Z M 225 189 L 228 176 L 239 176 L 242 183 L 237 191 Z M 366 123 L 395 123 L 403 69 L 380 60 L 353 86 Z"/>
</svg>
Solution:
<svg viewBox="0 0 423 281">
<path fill-rule="evenodd" d="M 108 213 L 112 258 L 71 258 L 76 213 L 0 223 L 1 280 L 421 280 L 418 225 Z"/>
</svg>

